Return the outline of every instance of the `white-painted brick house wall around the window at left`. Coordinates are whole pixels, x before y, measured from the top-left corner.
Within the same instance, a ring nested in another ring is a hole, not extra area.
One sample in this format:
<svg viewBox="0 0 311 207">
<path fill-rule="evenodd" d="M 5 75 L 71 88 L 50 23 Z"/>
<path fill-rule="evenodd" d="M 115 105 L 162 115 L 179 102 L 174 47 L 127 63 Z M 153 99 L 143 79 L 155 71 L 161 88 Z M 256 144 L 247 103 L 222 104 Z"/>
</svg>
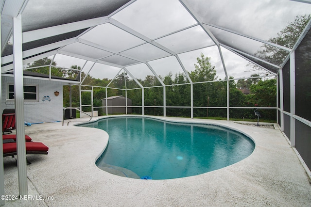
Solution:
<svg viewBox="0 0 311 207">
<path fill-rule="evenodd" d="M 0 110 L 14 109 L 14 100 L 7 100 L 8 84 L 13 84 L 13 77 L 2 77 L 2 100 Z M 28 123 L 54 122 L 63 119 L 63 83 L 50 80 L 24 79 L 24 85 L 36 85 L 38 87 L 38 101 L 24 101 L 24 116 Z M 55 96 L 54 92 L 59 95 Z M 43 101 L 44 96 L 50 96 L 51 100 Z"/>
</svg>

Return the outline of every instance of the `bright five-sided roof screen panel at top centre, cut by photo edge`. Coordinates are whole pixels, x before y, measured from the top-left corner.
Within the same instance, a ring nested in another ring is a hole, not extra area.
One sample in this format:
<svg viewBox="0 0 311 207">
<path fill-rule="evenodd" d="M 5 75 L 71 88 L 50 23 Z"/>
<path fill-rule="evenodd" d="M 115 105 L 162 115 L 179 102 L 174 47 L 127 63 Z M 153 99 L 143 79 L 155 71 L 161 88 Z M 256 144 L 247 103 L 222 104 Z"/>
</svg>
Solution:
<svg viewBox="0 0 311 207">
<path fill-rule="evenodd" d="M 178 0 L 137 0 L 112 18 L 150 39 L 196 24 Z"/>
</svg>

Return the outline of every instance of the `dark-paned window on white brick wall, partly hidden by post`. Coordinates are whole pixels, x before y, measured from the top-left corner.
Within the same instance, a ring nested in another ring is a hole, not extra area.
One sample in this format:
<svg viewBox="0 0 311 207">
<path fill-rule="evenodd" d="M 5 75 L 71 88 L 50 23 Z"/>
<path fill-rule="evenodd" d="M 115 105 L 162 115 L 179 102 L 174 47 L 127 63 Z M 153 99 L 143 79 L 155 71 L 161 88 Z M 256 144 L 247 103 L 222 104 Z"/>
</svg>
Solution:
<svg viewBox="0 0 311 207">
<path fill-rule="evenodd" d="M 8 99 L 14 100 L 14 85 L 8 84 Z M 25 101 L 38 101 L 38 86 L 24 85 L 24 100 Z"/>
</svg>

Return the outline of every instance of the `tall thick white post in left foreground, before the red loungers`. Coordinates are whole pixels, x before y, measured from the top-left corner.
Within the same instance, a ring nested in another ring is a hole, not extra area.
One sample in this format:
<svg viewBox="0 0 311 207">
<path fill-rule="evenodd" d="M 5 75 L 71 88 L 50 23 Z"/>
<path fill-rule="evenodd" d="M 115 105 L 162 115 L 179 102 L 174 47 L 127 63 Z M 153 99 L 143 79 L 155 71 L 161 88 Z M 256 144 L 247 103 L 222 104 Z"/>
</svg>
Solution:
<svg viewBox="0 0 311 207">
<path fill-rule="evenodd" d="M 17 174 L 19 195 L 28 195 L 24 127 L 24 81 L 21 15 L 13 18 L 14 97 L 16 113 Z"/>
</svg>

